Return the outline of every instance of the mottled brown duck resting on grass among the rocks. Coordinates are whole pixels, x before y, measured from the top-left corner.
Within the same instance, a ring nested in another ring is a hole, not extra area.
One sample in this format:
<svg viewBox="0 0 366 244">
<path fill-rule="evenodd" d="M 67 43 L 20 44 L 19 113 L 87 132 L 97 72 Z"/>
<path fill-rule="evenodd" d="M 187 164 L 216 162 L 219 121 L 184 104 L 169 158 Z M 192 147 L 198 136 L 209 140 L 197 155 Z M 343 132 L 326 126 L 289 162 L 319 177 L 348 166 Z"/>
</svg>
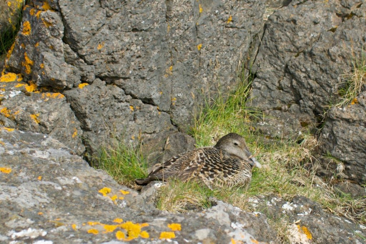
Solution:
<svg viewBox="0 0 366 244">
<path fill-rule="evenodd" d="M 252 167 L 261 164 L 249 151 L 245 140 L 236 133 L 219 139 L 213 147 L 201 147 L 184 152 L 158 165 L 139 185 L 154 180 L 178 178 L 182 181 L 203 182 L 210 189 L 216 187 L 247 187 L 252 179 Z"/>
</svg>

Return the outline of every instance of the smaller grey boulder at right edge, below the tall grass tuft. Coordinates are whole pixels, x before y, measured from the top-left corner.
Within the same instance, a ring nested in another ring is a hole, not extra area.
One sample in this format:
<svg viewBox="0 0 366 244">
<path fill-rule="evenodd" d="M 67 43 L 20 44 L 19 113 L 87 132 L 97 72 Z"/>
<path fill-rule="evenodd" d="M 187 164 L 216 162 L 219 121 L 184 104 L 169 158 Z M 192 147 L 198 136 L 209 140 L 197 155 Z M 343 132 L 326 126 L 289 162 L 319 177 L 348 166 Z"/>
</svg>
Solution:
<svg viewBox="0 0 366 244">
<path fill-rule="evenodd" d="M 338 165 L 320 160 L 319 173 L 363 184 L 366 182 L 366 92 L 357 97 L 357 103 L 344 108 L 333 107 L 319 137 L 320 154 L 332 155 L 341 160 Z M 344 168 L 344 169 L 343 169 Z"/>
</svg>

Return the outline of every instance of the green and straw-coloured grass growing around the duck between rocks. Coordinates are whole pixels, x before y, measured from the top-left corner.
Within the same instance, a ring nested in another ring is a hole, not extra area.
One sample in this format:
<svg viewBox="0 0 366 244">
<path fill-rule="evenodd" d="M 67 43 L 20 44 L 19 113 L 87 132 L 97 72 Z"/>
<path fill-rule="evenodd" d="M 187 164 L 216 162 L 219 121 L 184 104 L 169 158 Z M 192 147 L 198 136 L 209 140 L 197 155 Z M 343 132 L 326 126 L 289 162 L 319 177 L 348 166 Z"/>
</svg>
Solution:
<svg viewBox="0 0 366 244">
<path fill-rule="evenodd" d="M 229 132 L 241 134 L 252 153 L 263 165 L 261 169 L 253 169 L 250 188 L 210 190 L 194 182 L 171 180 L 159 188 L 157 207 L 174 213 L 199 211 L 202 208 L 209 208 L 210 198 L 214 198 L 245 211 L 261 211 L 263 209 L 260 207 L 253 207 L 250 198 L 275 195 L 291 201 L 294 196 L 301 195 L 320 203 L 325 211 L 345 216 L 356 223 L 366 224 L 365 198 L 352 199 L 348 195 L 337 195 L 330 184 L 319 182 L 312 167 L 304 167 L 316 160 L 312 156 L 318 143 L 315 136 L 304 133 L 301 143 L 297 143 L 294 140 L 269 139 L 255 130 L 253 123 L 261 120 L 263 114 L 246 107 L 251 82 L 252 77 L 246 77 L 232 93 L 218 92 L 215 101 L 206 101 L 205 106 L 199 110 L 194 126 L 189 130 L 196 139 L 198 147 L 214 145 L 221 136 Z M 116 157 L 111 156 L 122 150 L 123 155 L 134 157 L 131 153 L 124 152 L 126 149 L 131 150 L 132 154 L 138 152 L 125 146 L 122 146 L 122 149 L 106 150 L 103 155 L 107 156 L 103 158 L 108 158 L 110 161 L 103 159 L 102 161 L 107 163 L 102 165 L 117 181 L 131 186 L 135 178 L 146 175 L 146 163 L 141 161 L 140 157 L 136 157 L 133 160 L 128 159 L 129 163 L 120 165 L 119 162 L 124 160 L 115 160 Z M 143 166 L 139 167 L 138 164 Z M 132 171 L 140 173 L 123 173 L 124 176 L 119 176 L 117 172 L 122 171 L 124 167 L 132 167 L 134 169 Z M 125 180 L 121 180 L 122 178 Z M 282 242 L 289 242 L 287 227 L 290 223 L 286 222 L 286 218 L 271 216 L 268 218 L 270 225 L 277 231 L 277 238 Z"/>
</svg>

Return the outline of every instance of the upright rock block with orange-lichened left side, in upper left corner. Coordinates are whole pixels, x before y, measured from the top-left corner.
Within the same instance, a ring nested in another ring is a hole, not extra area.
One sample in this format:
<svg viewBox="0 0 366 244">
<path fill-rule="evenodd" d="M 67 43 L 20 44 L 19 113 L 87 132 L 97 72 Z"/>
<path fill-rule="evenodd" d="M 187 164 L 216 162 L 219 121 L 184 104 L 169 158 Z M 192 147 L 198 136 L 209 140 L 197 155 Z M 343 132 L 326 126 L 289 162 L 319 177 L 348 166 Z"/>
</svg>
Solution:
<svg viewBox="0 0 366 244">
<path fill-rule="evenodd" d="M 23 21 L 8 70 L 21 73 L 25 81 L 56 89 L 71 88 L 80 83 L 80 71 L 65 62 L 62 38 L 64 27 L 58 12 L 48 3 L 26 6 Z"/>
</svg>

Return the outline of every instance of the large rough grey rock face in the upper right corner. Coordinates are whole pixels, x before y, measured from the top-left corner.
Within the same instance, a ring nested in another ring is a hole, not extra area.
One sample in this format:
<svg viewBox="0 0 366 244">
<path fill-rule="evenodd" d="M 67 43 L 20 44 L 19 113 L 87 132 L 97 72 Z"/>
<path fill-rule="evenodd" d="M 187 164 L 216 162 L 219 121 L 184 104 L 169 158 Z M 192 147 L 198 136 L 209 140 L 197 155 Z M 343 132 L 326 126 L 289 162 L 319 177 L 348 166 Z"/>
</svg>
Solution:
<svg viewBox="0 0 366 244">
<path fill-rule="evenodd" d="M 262 131 L 290 137 L 311 129 L 337 100 L 341 74 L 352 68 L 350 52 L 361 54 L 365 43 L 360 2 L 291 1 L 269 17 L 249 104 L 268 116 L 258 124 Z"/>
</svg>

